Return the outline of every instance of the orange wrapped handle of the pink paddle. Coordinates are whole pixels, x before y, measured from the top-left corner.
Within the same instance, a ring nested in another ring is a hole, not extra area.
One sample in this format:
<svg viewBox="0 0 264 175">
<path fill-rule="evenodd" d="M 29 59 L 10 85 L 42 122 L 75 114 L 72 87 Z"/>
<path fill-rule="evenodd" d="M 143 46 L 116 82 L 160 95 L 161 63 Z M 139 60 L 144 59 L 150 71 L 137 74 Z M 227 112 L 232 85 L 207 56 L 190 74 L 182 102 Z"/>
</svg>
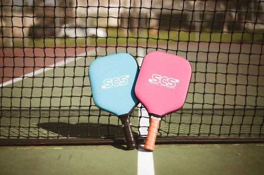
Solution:
<svg viewBox="0 0 264 175">
<path fill-rule="evenodd" d="M 158 126 L 161 118 L 159 117 L 151 117 L 151 124 L 149 127 L 149 132 L 147 136 L 147 140 L 144 146 L 144 149 L 149 151 L 154 151 L 155 149 L 155 141 L 158 133 Z"/>
</svg>

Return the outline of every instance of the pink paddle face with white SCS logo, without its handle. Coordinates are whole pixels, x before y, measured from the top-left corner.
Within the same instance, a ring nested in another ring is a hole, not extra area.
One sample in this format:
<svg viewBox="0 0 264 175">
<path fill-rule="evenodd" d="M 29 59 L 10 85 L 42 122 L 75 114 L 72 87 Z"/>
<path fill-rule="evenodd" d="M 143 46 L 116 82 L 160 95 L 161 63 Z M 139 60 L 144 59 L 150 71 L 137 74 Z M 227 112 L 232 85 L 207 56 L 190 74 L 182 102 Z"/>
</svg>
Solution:
<svg viewBox="0 0 264 175">
<path fill-rule="evenodd" d="M 182 107 L 192 68 L 186 59 L 154 51 L 143 60 L 135 93 L 150 115 L 162 117 Z"/>
</svg>

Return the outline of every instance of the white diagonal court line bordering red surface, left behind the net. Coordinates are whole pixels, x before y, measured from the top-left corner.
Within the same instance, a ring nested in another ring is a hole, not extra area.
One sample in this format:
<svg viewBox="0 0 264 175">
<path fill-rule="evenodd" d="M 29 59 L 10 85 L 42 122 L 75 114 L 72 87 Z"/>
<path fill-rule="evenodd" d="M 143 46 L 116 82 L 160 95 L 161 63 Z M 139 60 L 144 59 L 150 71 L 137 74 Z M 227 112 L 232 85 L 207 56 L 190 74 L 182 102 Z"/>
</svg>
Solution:
<svg viewBox="0 0 264 175">
<path fill-rule="evenodd" d="M 97 49 L 97 51 L 99 51 L 99 49 Z M 84 53 L 87 53 L 87 54 L 85 55 Z M 55 64 L 49 65 L 46 68 L 38 69 L 36 71 L 30 72 L 28 74 L 25 74 L 25 75 L 23 75 L 21 77 L 17 77 L 17 78 L 14 78 L 12 80 L 9 80 L 7 82 L 4 82 L 4 83 L 0 84 L 0 87 L 5 87 L 5 86 L 11 85 L 11 84 L 13 84 L 15 82 L 22 81 L 23 79 L 26 79 L 26 78 L 29 78 L 29 77 L 33 77 L 33 76 L 38 75 L 38 74 L 41 74 L 43 72 L 52 70 L 52 69 L 54 69 L 55 66 L 62 66 L 64 64 L 73 62 L 74 60 L 78 60 L 78 59 L 83 58 L 85 56 L 92 55 L 93 53 L 96 53 L 96 50 L 95 49 L 88 50 L 87 52 L 80 53 L 80 54 L 76 55 L 76 57 L 66 58 L 65 60 L 62 60 L 62 61 L 59 61 L 59 62 L 57 62 Z"/>
</svg>

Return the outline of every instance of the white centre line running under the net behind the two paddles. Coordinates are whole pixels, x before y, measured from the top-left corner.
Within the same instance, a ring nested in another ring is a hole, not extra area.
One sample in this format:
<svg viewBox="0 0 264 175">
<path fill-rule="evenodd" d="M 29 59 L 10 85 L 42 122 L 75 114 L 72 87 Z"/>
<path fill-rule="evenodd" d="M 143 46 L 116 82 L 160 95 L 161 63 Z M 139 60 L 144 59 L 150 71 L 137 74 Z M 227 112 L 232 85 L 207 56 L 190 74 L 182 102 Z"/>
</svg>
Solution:
<svg viewBox="0 0 264 175">
<path fill-rule="evenodd" d="M 145 56 L 145 50 L 138 48 L 138 64 L 142 65 L 143 57 Z M 141 104 L 138 105 L 140 107 Z M 150 126 L 149 114 L 145 108 L 138 110 L 139 116 L 144 116 L 139 120 L 139 131 L 141 135 L 148 134 L 148 127 Z M 140 145 L 144 146 L 144 145 Z M 138 175 L 155 175 L 153 153 L 143 148 L 138 148 Z"/>
</svg>

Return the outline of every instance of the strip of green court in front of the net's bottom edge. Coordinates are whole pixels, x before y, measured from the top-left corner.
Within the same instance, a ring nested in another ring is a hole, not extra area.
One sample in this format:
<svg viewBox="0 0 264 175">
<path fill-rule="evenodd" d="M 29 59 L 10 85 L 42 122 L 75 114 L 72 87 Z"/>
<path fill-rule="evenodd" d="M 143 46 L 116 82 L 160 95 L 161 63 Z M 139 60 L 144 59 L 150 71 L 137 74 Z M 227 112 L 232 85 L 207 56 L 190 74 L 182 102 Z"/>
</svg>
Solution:
<svg viewBox="0 0 264 175">
<path fill-rule="evenodd" d="M 0 174 L 137 175 L 137 156 L 120 145 L 0 147 Z M 153 157 L 155 175 L 264 172 L 263 144 L 157 145 Z"/>
</svg>

